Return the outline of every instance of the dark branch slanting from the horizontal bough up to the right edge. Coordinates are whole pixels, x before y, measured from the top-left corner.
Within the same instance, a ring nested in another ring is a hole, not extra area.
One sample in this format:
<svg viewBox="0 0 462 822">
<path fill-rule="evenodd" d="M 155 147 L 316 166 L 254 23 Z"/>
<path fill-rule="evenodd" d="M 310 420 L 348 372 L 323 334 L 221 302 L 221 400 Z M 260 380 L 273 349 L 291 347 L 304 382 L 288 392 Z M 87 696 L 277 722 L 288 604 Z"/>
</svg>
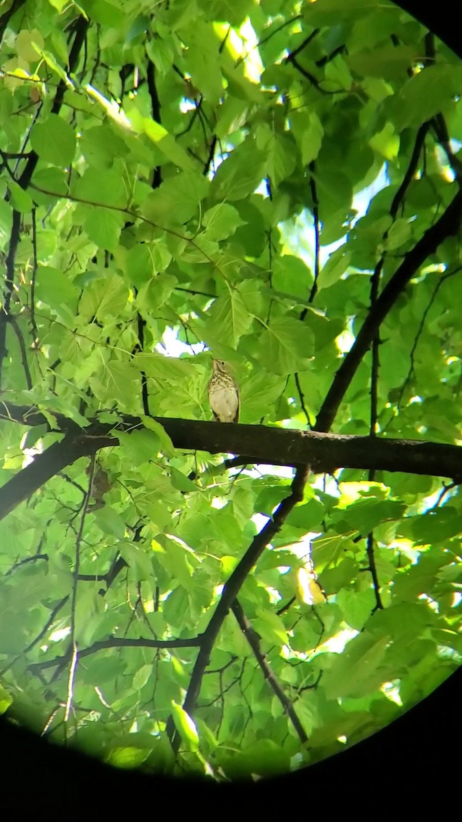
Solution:
<svg viewBox="0 0 462 822">
<path fill-rule="evenodd" d="M 427 229 L 423 237 L 405 256 L 398 270 L 395 271 L 395 274 L 386 284 L 372 311 L 367 315 L 353 346 L 335 374 L 334 381 L 317 415 L 316 431 L 330 430 L 340 403 L 344 399 L 359 363 L 361 363 L 364 354 L 367 353 L 377 329 L 381 326 L 386 315 L 390 312 L 400 294 L 403 293 L 419 266 L 422 266 L 428 256 L 436 252 L 437 247 L 443 240 L 457 233 L 461 219 L 462 192 L 458 192 L 444 214 L 437 220 L 437 223 Z"/>
</svg>

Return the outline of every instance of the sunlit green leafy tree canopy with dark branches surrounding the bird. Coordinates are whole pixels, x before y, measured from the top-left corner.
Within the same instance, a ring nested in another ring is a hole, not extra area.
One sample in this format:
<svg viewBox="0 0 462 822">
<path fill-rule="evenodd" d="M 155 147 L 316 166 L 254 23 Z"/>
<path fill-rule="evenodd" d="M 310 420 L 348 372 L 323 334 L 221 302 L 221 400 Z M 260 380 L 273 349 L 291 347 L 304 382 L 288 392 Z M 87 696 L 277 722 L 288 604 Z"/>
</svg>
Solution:
<svg viewBox="0 0 462 822">
<path fill-rule="evenodd" d="M 462 657 L 460 60 L 387 0 L 0 36 L 0 708 L 158 773 L 343 750 Z"/>
</svg>

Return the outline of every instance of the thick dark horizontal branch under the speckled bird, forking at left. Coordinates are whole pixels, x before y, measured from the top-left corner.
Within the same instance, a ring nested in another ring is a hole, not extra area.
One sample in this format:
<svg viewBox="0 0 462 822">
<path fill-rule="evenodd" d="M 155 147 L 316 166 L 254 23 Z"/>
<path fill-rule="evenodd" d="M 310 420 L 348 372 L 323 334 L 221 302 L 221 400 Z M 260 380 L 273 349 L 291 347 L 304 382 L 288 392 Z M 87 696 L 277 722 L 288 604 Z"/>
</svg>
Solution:
<svg viewBox="0 0 462 822">
<path fill-rule="evenodd" d="M 1 406 L 0 406 L 1 407 Z M 40 413 L 2 404 L 3 418 L 33 425 L 47 423 Z M 5 413 L 7 411 L 7 413 Z M 67 465 L 100 448 L 118 444 L 117 429 L 130 433 L 142 427 L 137 417 L 126 416 L 118 427 L 91 423 L 85 431 L 76 423 L 55 415 L 62 427 L 70 429 L 60 442 L 53 443 L 35 457 L 0 489 L 0 520 L 31 496 Z M 206 450 L 210 454 L 234 453 L 244 464 L 310 465 L 314 473 L 340 468 L 401 471 L 437 477 L 462 478 L 462 448 L 437 442 L 391 440 L 380 437 L 293 431 L 263 425 L 229 425 L 202 420 L 153 417 L 179 449 Z M 76 432 L 77 428 L 77 432 Z"/>
</svg>

